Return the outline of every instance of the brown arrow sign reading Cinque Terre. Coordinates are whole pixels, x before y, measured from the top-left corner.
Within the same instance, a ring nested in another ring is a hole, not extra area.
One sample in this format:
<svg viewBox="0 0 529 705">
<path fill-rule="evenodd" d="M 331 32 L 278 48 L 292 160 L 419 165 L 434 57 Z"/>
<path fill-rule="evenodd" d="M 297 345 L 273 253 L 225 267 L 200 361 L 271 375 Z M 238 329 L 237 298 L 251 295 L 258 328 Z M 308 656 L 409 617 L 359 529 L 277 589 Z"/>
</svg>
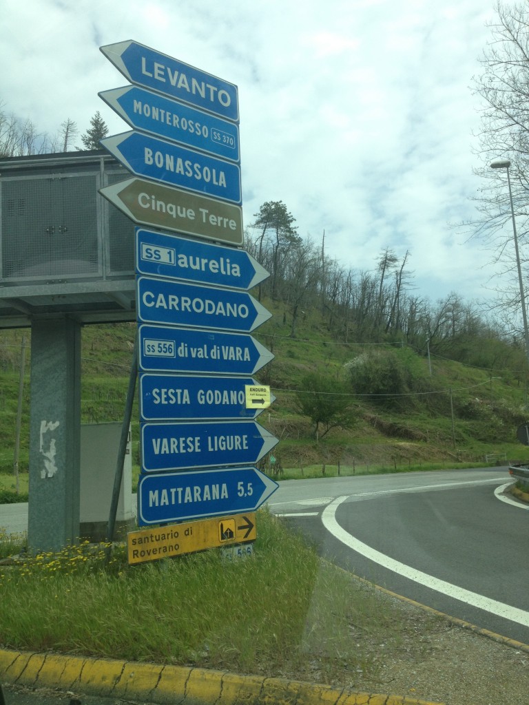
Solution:
<svg viewBox="0 0 529 705">
<path fill-rule="evenodd" d="M 243 244 L 240 206 L 140 178 L 119 181 L 99 193 L 136 223 L 228 245 Z"/>
</svg>

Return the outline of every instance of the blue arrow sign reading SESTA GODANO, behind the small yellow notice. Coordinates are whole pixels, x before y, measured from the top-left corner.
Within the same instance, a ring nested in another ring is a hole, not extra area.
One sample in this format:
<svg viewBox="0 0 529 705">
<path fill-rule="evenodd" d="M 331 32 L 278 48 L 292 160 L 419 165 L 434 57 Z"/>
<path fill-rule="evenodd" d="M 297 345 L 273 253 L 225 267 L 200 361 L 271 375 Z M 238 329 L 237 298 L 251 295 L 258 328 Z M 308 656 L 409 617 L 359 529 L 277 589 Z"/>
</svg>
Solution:
<svg viewBox="0 0 529 705">
<path fill-rule="evenodd" d="M 141 374 L 142 421 L 255 419 L 263 408 L 246 408 L 245 385 L 252 377 Z"/>
</svg>

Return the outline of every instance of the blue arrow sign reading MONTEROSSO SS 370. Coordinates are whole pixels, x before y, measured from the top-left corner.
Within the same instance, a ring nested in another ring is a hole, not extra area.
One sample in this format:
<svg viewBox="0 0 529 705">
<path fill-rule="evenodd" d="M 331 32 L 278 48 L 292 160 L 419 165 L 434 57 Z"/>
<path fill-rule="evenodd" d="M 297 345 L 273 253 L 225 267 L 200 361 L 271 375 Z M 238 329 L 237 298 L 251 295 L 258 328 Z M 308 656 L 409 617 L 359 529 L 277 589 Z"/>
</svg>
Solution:
<svg viewBox="0 0 529 705">
<path fill-rule="evenodd" d="M 238 125 L 138 86 L 99 93 L 131 127 L 192 149 L 239 161 Z"/>
</svg>

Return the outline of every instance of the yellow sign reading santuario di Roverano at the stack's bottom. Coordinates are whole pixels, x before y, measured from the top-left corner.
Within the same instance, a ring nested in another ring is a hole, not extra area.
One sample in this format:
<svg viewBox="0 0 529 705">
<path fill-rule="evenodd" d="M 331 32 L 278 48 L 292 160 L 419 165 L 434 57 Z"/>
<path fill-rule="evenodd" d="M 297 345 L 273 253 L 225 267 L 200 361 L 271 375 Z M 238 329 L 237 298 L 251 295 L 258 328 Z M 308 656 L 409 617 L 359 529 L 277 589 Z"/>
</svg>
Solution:
<svg viewBox="0 0 529 705">
<path fill-rule="evenodd" d="M 255 512 L 140 529 L 127 534 L 128 563 L 162 560 L 256 538 Z"/>
</svg>

